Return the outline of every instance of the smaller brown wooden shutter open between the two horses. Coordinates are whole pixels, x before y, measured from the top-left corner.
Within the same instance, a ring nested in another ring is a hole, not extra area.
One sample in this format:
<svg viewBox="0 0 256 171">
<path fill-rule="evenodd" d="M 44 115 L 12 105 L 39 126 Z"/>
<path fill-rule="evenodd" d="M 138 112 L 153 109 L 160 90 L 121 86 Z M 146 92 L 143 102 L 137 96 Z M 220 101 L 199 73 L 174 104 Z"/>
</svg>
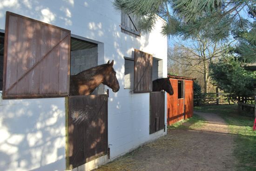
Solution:
<svg viewBox="0 0 256 171">
<path fill-rule="evenodd" d="M 135 49 L 134 92 L 152 92 L 152 66 L 152 55 Z"/>
</svg>

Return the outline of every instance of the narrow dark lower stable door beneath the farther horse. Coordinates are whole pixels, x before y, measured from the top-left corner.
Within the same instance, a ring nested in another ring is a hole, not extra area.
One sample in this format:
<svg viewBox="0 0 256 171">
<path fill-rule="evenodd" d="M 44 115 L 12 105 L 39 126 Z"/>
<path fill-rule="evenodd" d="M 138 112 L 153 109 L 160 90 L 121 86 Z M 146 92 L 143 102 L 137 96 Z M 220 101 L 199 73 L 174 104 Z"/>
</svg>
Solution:
<svg viewBox="0 0 256 171">
<path fill-rule="evenodd" d="M 149 134 L 164 129 L 164 92 L 150 92 Z"/>
</svg>

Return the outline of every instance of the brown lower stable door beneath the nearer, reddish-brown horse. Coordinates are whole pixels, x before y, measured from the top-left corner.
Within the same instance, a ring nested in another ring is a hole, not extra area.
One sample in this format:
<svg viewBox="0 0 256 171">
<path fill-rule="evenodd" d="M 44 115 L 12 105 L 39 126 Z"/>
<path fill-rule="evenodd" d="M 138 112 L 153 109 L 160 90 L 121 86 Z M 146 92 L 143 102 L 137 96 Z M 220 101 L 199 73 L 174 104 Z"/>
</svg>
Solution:
<svg viewBox="0 0 256 171">
<path fill-rule="evenodd" d="M 108 152 L 108 95 L 68 98 L 68 168 Z"/>
</svg>

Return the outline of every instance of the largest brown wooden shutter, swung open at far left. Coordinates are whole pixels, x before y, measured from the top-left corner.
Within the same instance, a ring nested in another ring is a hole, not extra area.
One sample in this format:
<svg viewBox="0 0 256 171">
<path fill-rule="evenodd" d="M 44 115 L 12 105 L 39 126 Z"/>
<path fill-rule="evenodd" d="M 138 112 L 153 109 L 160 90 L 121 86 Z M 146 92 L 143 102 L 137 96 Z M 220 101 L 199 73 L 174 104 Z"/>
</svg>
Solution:
<svg viewBox="0 0 256 171">
<path fill-rule="evenodd" d="M 70 31 L 6 13 L 3 98 L 69 93 Z"/>
</svg>

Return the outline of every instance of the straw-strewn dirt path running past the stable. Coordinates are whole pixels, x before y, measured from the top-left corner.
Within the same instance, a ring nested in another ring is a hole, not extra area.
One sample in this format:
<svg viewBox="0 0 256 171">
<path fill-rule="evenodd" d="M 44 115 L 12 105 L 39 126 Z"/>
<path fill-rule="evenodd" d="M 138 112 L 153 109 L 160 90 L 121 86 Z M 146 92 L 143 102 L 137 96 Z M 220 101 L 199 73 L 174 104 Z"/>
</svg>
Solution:
<svg viewBox="0 0 256 171">
<path fill-rule="evenodd" d="M 168 130 L 165 137 L 97 171 L 234 171 L 233 138 L 224 120 L 213 113 L 200 128 Z M 187 123 L 183 123 L 189 126 Z"/>
</svg>

